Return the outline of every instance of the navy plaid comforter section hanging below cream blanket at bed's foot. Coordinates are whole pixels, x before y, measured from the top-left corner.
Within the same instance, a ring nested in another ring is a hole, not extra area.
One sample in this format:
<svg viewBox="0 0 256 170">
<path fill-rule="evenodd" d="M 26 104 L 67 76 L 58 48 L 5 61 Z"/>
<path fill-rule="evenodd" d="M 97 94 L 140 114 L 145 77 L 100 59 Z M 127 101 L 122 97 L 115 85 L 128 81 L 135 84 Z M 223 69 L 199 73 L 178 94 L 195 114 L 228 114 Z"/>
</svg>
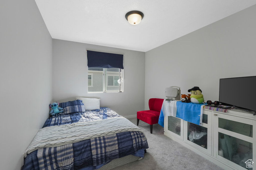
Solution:
<svg viewBox="0 0 256 170">
<path fill-rule="evenodd" d="M 138 152 L 144 157 L 144 149 L 148 143 L 142 132 L 122 132 L 35 150 L 27 155 L 23 170 L 95 169 L 117 158 L 138 156 Z"/>
</svg>

